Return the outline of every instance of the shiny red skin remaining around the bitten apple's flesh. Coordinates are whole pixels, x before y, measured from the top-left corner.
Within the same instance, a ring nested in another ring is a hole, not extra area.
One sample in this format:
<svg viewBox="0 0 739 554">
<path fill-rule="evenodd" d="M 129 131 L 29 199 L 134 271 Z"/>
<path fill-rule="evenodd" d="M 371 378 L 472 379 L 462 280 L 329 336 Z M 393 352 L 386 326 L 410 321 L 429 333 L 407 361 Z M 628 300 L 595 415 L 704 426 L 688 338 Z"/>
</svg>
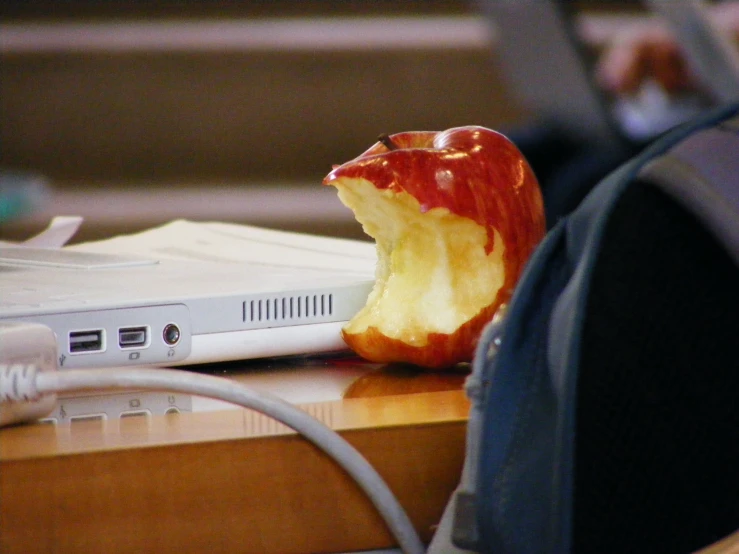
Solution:
<svg viewBox="0 0 739 554">
<path fill-rule="evenodd" d="M 337 166 L 325 185 L 341 177 L 363 178 L 378 189 L 405 191 L 421 211 L 446 208 L 472 219 L 487 232 L 487 254 L 497 230 L 505 245 L 505 279 L 494 302 L 453 334 L 430 333 L 424 346 L 383 335 L 377 328 L 344 340 L 372 361 L 406 361 L 430 368 L 470 361 L 483 327 L 506 304 L 529 256 L 545 234 L 538 181 L 518 148 L 504 135 L 478 126 L 442 132 L 405 132 L 390 136 L 396 149 L 378 142 L 359 157 Z"/>
</svg>

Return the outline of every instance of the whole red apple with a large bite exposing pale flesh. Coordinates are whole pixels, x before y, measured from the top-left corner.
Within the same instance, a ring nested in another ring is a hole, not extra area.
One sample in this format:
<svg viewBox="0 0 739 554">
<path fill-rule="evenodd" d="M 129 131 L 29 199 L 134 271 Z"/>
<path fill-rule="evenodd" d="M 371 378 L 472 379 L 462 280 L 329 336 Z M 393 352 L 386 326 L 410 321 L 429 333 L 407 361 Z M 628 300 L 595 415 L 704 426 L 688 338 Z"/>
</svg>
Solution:
<svg viewBox="0 0 739 554">
<path fill-rule="evenodd" d="M 545 232 L 516 146 L 477 126 L 382 136 L 323 183 L 377 245 L 375 286 L 342 331 L 349 347 L 376 362 L 470 361 Z"/>
</svg>

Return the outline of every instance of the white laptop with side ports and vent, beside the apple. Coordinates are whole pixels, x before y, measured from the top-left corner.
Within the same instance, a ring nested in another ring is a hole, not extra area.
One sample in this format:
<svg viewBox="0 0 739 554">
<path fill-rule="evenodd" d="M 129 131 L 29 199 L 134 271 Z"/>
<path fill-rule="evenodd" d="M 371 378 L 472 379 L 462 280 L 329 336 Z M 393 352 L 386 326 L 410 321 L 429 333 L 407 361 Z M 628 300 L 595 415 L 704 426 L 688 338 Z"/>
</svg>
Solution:
<svg viewBox="0 0 739 554">
<path fill-rule="evenodd" d="M 338 351 L 375 262 L 370 242 L 189 221 L 58 249 L 4 245 L 0 321 L 51 327 L 60 369 Z"/>
</svg>

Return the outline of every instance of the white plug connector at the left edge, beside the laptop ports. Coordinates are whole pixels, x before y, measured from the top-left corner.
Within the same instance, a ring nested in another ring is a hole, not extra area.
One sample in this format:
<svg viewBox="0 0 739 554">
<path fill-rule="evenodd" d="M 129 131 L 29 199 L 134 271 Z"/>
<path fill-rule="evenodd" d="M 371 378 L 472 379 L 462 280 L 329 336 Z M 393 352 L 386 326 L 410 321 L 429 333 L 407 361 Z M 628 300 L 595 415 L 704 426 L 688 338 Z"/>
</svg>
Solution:
<svg viewBox="0 0 739 554">
<path fill-rule="evenodd" d="M 52 412 L 56 394 L 40 394 L 39 373 L 56 371 L 57 343 L 45 325 L 0 323 L 0 427 L 42 418 Z"/>
</svg>

